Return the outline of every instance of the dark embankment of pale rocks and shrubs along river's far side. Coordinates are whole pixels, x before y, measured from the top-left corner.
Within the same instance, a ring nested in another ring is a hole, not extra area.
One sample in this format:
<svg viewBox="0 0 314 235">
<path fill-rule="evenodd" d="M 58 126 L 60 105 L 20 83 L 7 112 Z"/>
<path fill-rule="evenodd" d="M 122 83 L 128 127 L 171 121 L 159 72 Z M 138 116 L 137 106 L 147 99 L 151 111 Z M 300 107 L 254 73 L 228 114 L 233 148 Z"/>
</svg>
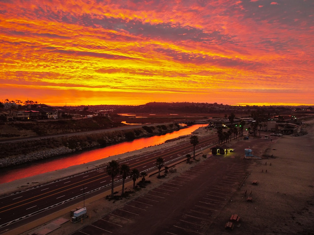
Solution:
<svg viewBox="0 0 314 235">
<path fill-rule="evenodd" d="M 103 134 L 76 135 L 0 144 L 0 153 L 2 153 L 2 156 L 5 156 L 0 158 L 0 168 L 69 154 L 75 151 L 104 147 L 135 138 L 169 133 L 178 129 L 179 127 L 174 124 L 158 125 L 155 127 L 144 126 L 143 128 L 134 128 L 132 130 L 113 130 L 110 133 Z"/>
</svg>

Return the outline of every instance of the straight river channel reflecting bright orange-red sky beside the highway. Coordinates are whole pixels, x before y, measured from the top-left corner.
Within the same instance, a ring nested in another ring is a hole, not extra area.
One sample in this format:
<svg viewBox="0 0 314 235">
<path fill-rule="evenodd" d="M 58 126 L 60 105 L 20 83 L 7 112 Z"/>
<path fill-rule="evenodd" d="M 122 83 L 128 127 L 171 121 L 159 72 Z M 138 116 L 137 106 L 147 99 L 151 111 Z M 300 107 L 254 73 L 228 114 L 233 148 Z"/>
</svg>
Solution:
<svg viewBox="0 0 314 235">
<path fill-rule="evenodd" d="M 191 127 L 184 128 L 172 133 L 167 133 L 161 136 L 135 139 L 130 142 L 115 144 L 101 149 L 94 149 L 86 152 L 71 154 L 56 159 L 47 159 L 35 163 L 24 164 L 14 169 L 3 170 L 0 173 L 0 184 L 17 179 L 26 178 L 33 175 L 39 175 L 50 171 L 64 169 L 73 165 L 80 165 L 87 162 L 92 162 L 109 156 L 114 156 L 138 149 L 143 149 L 149 146 L 162 144 L 168 139 L 173 139 L 182 135 L 191 134 L 194 130 L 202 126 L 205 125 L 193 125 Z"/>
</svg>

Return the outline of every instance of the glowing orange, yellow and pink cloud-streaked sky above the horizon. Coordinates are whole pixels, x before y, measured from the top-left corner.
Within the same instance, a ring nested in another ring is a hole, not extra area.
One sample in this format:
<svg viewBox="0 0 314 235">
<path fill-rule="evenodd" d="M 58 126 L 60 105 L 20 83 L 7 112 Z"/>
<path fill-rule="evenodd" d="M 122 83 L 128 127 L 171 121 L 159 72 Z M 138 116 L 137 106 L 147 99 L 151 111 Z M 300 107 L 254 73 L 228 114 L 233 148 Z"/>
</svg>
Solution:
<svg viewBox="0 0 314 235">
<path fill-rule="evenodd" d="M 0 99 L 314 104 L 313 0 L 0 1 Z"/>
</svg>

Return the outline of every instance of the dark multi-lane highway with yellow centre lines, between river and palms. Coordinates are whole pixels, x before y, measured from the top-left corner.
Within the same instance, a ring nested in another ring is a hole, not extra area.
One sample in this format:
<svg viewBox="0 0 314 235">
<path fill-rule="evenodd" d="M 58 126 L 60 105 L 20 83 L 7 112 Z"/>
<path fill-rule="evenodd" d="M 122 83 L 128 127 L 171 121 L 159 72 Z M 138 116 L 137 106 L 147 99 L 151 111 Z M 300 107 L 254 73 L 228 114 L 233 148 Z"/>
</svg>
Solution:
<svg viewBox="0 0 314 235">
<path fill-rule="evenodd" d="M 217 142 L 216 136 L 199 138 L 196 151 L 213 146 Z M 165 166 L 176 161 L 186 159 L 186 154 L 193 154 L 193 146 L 189 141 L 132 159 L 124 159 L 120 164 L 127 164 L 131 169 L 150 171 L 156 169 L 156 158 L 164 159 Z M 121 176 L 115 179 L 116 185 L 122 180 Z M 22 225 L 24 220 L 29 222 L 32 216 L 40 213 L 41 216 L 52 210 L 70 206 L 74 201 L 83 200 L 95 193 L 110 187 L 111 179 L 106 172 L 106 166 L 95 170 L 69 176 L 44 185 L 6 195 L 0 198 L 0 227 L 2 231 Z"/>
</svg>

